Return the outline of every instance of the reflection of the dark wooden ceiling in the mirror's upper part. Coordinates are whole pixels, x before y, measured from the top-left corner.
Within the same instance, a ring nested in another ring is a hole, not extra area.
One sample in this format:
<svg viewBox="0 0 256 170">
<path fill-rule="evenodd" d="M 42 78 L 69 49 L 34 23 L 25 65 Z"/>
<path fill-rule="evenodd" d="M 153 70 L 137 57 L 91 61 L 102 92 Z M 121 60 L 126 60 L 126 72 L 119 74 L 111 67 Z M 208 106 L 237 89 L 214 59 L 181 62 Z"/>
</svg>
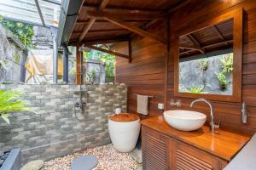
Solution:
<svg viewBox="0 0 256 170">
<path fill-rule="evenodd" d="M 207 54 L 216 49 L 232 48 L 233 26 L 234 21 L 230 19 L 179 37 L 180 57 Z"/>
</svg>

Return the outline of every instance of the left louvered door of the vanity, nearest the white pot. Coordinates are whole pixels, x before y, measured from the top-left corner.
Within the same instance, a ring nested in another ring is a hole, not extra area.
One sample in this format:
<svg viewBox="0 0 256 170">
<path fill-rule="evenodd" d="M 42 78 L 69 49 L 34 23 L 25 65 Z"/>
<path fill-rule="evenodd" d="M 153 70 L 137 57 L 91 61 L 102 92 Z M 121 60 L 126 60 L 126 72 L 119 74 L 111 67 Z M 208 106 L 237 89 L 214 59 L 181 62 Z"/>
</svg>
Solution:
<svg viewBox="0 0 256 170">
<path fill-rule="evenodd" d="M 143 170 L 168 170 L 168 137 L 143 127 Z"/>
</svg>

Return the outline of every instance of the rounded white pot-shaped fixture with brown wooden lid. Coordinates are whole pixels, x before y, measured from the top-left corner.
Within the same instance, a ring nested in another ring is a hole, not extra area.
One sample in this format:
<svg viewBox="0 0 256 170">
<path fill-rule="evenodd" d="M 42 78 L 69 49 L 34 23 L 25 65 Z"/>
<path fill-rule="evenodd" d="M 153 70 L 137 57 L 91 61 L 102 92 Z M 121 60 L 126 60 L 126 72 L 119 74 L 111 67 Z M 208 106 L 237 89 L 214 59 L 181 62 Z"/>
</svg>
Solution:
<svg viewBox="0 0 256 170">
<path fill-rule="evenodd" d="M 108 130 L 113 147 L 119 152 L 134 150 L 140 133 L 140 117 L 132 113 L 109 116 Z"/>
</svg>

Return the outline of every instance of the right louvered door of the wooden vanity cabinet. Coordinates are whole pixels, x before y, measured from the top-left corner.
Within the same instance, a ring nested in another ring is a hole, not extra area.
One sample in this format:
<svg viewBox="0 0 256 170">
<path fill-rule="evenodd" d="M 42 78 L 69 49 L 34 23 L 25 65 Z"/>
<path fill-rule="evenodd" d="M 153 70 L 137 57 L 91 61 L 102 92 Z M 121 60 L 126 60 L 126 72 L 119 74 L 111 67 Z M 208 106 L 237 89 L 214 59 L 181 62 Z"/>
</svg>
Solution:
<svg viewBox="0 0 256 170">
<path fill-rule="evenodd" d="M 226 162 L 181 142 L 172 142 L 172 169 L 221 170 Z"/>
</svg>

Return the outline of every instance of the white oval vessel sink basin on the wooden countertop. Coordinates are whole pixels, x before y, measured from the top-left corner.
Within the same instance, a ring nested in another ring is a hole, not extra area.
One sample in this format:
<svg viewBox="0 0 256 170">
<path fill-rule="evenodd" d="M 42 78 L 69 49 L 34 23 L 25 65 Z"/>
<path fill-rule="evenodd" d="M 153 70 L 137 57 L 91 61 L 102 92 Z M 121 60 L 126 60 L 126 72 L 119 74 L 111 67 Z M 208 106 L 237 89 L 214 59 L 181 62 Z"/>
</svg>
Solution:
<svg viewBox="0 0 256 170">
<path fill-rule="evenodd" d="M 165 111 L 166 122 L 177 130 L 193 131 L 202 127 L 207 116 L 197 111 L 173 110 Z"/>
</svg>

